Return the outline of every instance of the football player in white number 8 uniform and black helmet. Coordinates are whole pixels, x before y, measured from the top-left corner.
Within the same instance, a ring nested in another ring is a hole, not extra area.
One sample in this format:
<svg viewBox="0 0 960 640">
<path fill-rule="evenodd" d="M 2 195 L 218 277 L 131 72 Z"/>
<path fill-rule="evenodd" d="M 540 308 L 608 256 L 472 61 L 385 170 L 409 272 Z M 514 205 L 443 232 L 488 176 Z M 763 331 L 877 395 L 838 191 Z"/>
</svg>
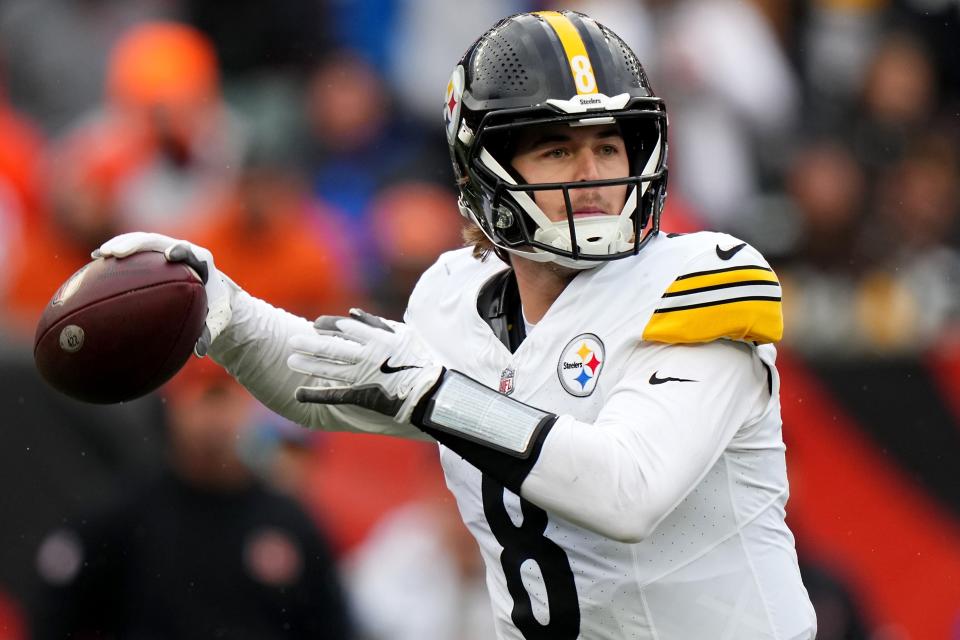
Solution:
<svg viewBox="0 0 960 640">
<path fill-rule="evenodd" d="M 443 114 L 471 246 L 403 322 L 309 322 L 156 234 L 95 255 L 193 265 L 198 355 L 284 416 L 437 441 L 499 638 L 814 638 L 784 522 L 780 285 L 736 238 L 660 231 L 667 117 L 636 56 L 582 14 L 512 16 Z"/>
</svg>

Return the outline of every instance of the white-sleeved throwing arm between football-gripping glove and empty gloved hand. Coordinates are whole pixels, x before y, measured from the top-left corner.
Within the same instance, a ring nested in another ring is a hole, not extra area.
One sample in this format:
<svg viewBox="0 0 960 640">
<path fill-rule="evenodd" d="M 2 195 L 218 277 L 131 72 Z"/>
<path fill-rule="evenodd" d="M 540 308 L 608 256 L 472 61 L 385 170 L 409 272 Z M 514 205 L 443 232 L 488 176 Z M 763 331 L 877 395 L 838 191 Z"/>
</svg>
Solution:
<svg viewBox="0 0 960 640">
<path fill-rule="evenodd" d="M 374 431 L 424 438 L 409 425 L 356 407 L 297 402 L 294 392 L 316 381 L 287 366 L 290 336 L 312 333 L 310 321 L 271 306 L 244 291 L 233 296 L 230 325 L 214 341 L 210 357 L 227 369 L 260 402 L 285 418 L 311 429 Z"/>
</svg>

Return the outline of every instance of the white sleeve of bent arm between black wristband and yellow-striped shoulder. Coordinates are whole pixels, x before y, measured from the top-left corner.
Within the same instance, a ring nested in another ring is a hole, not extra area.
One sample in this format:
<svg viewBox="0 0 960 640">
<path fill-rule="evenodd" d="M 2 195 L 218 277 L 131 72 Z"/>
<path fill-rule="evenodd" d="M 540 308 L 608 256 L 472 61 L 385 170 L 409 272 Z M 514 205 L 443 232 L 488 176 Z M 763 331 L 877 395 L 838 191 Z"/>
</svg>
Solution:
<svg viewBox="0 0 960 640">
<path fill-rule="evenodd" d="M 588 530 L 638 542 L 772 403 L 766 367 L 743 343 L 643 343 L 630 369 L 592 424 L 560 416 L 521 495 Z"/>
</svg>

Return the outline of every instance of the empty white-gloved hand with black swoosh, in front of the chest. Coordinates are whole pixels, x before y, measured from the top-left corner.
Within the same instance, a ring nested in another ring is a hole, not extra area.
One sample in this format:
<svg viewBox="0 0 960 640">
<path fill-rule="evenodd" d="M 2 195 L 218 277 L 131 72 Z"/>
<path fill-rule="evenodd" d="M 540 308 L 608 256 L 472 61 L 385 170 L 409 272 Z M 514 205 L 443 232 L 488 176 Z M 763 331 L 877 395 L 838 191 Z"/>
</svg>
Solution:
<svg viewBox="0 0 960 640">
<path fill-rule="evenodd" d="M 316 333 L 290 338 L 287 366 L 319 379 L 298 387 L 299 402 L 353 404 L 409 422 L 417 403 L 440 380 L 442 365 L 416 332 L 361 309 L 321 316 Z"/>
</svg>

